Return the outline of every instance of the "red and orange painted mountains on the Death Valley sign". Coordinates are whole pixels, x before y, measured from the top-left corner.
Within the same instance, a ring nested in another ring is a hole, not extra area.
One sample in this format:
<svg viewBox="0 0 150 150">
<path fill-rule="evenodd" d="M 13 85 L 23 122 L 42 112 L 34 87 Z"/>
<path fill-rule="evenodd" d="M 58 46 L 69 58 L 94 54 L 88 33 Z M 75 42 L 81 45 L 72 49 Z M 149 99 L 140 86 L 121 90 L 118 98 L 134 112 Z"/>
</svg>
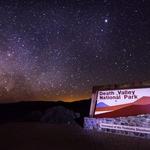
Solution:
<svg viewBox="0 0 150 150">
<path fill-rule="evenodd" d="M 126 117 L 150 113 L 150 97 L 142 97 L 130 104 L 97 108 L 96 111 L 111 111 L 95 115 L 97 118 Z"/>
</svg>

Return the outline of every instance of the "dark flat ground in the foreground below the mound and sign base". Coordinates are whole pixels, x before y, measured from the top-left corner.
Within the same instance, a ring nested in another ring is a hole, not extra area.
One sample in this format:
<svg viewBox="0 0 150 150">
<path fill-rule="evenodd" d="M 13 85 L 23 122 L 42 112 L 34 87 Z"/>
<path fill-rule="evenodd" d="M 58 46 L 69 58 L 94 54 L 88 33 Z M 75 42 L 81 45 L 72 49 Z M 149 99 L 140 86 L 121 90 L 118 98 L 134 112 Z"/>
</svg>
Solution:
<svg viewBox="0 0 150 150">
<path fill-rule="evenodd" d="M 144 150 L 150 140 L 48 123 L 0 124 L 0 150 Z"/>
</svg>

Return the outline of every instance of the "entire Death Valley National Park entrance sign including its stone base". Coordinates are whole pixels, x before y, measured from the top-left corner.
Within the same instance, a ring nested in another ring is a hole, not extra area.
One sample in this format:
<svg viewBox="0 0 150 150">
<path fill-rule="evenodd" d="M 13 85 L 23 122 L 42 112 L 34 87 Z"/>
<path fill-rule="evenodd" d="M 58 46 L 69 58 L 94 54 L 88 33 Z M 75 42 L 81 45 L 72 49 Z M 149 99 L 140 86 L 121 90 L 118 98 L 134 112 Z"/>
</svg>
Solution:
<svg viewBox="0 0 150 150">
<path fill-rule="evenodd" d="M 95 86 L 84 127 L 150 138 L 150 82 Z"/>
</svg>

